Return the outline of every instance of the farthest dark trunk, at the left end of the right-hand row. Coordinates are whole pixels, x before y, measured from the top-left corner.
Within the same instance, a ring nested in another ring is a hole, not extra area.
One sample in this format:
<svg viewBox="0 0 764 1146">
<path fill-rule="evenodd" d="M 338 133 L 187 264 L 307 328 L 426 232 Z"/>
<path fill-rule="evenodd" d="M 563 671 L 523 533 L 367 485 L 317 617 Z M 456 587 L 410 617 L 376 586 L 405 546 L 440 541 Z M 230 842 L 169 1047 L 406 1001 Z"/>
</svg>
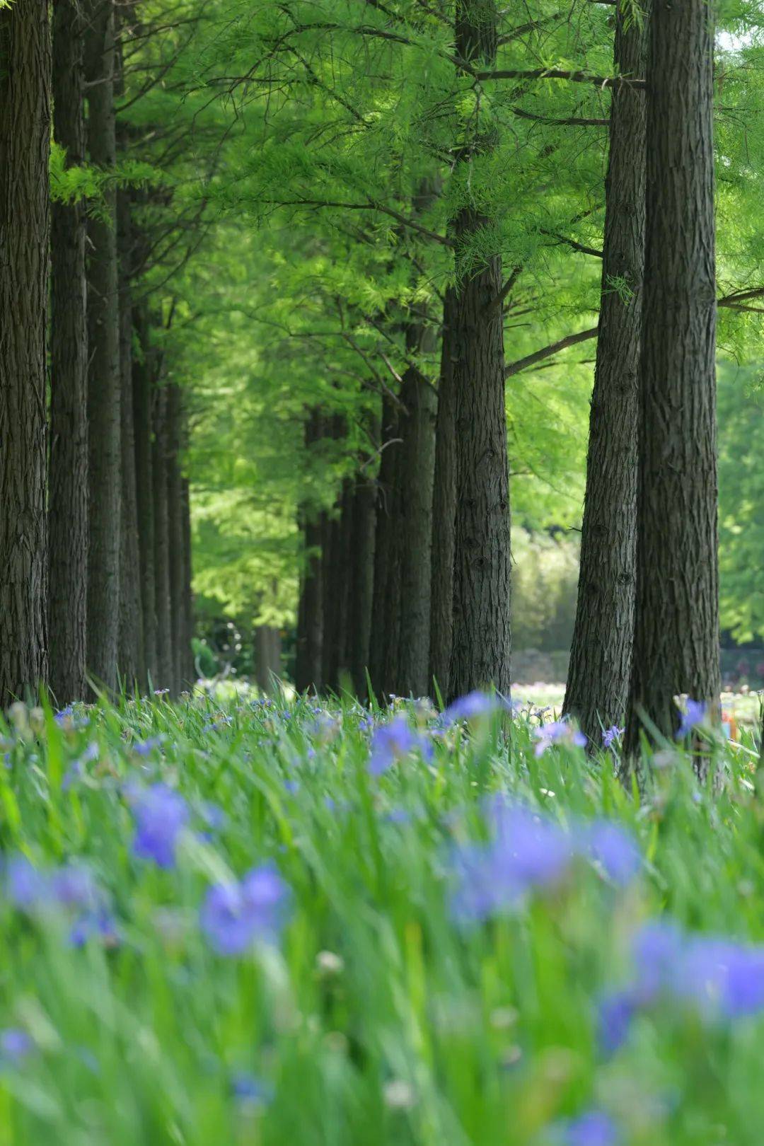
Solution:
<svg viewBox="0 0 764 1146">
<path fill-rule="evenodd" d="M 323 418 L 313 410 L 305 424 L 306 450 L 323 437 Z M 321 689 L 323 646 L 323 580 L 321 575 L 322 526 L 320 515 L 310 505 L 302 511 L 305 567 L 300 583 L 300 610 L 297 633 L 294 681 L 298 692 Z"/>
</svg>

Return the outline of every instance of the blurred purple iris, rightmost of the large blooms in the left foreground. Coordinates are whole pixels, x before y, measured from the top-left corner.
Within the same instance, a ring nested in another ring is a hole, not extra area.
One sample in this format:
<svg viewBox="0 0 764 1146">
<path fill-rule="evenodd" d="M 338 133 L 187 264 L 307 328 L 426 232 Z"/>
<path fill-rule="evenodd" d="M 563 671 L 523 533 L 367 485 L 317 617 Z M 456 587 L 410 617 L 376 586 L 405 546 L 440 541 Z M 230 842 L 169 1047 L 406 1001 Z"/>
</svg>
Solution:
<svg viewBox="0 0 764 1146">
<path fill-rule="evenodd" d="M 219 955 L 241 955 L 273 940 L 285 923 L 289 886 L 274 864 L 253 868 L 241 882 L 215 884 L 202 905 L 202 929 Z"/>
</svg>

